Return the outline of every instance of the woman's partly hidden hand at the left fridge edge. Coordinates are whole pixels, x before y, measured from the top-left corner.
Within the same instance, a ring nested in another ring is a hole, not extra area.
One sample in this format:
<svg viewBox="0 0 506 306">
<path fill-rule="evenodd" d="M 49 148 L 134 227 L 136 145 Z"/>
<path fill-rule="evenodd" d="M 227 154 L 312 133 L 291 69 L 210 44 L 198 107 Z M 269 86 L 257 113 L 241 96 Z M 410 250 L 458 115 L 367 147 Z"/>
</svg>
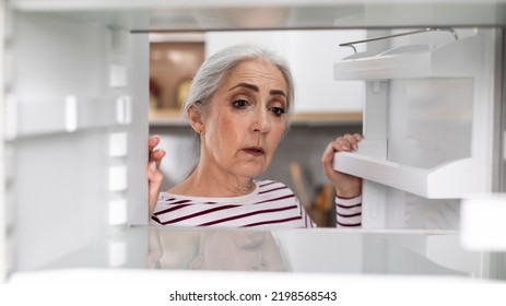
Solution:
<svg viewBox="0 0 506 306">
<path fill-rule="evenodd" d="M 156 201 L 158 200 L 160 188 L 164 179 L 163 173 L 160 170 L 160 164 L 162 158 L 165 156 L 164 150 L 155 150 L 156 145 L 160 143 L 160 137 L 153 136 L 150 137 L 149 142 L 149 154 L 150 161 L 148 163 L 148 185 L 149 185 L 149 205 L 150 205 L 150 219 L 153 214 L 154 208 L 156 207 Z"/>
</svg>

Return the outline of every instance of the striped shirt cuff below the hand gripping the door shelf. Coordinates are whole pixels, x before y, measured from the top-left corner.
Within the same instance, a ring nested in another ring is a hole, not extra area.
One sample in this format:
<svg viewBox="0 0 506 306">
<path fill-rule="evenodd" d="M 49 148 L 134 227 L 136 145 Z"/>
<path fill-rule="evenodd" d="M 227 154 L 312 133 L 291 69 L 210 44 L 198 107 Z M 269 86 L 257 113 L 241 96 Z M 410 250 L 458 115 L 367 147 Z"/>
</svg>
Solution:
<svg viewBox="0 0 506 306">
<path fill-rule="evenodd" d="M 355 198 L 336 197 L 337 227 L 362 226 L 362 196 Z"/>
</svg>

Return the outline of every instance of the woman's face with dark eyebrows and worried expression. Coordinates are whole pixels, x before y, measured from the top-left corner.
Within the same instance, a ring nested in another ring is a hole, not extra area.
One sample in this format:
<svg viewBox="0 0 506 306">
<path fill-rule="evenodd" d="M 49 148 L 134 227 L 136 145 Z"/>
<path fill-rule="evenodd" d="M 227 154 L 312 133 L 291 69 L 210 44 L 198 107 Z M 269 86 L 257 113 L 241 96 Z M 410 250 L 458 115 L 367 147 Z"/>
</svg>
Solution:
<svg viewBox="0 0 506 306">
<path fill-rule="evenodd" d="M 207 162 L 240 177 L 262 174 L 286 127 L 287 93 L 283 74 L 271 62 L 237 64 L 202 117 Z"/>
</svg>

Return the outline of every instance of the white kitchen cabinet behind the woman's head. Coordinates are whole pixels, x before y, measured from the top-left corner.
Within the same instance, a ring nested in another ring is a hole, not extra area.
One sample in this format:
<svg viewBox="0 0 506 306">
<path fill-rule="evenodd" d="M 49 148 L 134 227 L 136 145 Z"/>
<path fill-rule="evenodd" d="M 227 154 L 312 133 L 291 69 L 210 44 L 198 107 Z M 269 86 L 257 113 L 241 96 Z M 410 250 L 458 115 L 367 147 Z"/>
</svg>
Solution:
<svg viewBox="0 0 506 306">
<path fill-rule="evenodd" d="M 205 34 L 210 55 L 235 44 L 257 44 L 285 57 L 295 80 L 296 113 L 361 111 L 364 82 L 333 80 L 333 62 L 349 56 L 340 43 L 358 40 L 365 31 L 238 31 Z"/>
</svg>

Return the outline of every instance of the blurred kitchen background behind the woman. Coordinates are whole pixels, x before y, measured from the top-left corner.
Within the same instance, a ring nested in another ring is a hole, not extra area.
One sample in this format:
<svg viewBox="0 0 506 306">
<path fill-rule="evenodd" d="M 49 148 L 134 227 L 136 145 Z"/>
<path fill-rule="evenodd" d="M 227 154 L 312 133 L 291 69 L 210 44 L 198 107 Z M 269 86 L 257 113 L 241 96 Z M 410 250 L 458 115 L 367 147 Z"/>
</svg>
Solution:
<svg viewBox="0 0 506 306">
<path fill-rule="evenodd" d="M 339 47 L 339 42 L 356 40 L 365 34 L 358 30 L 150 34 L 150 134 L 158 134 L 160 148 L 167 152 L 162 164 L 163 190 L 188 175 L 198 157 L 195 133 L 180 107 L 199 66 L 228 45 L 258 44 L 287 59 L 296 92 L 290 131 L 262 178 L 283 181 L 319 226 L 334 226 L 334 191 L 319 157 L 338 136 L 362 132 L 365 84 L 334 81 L 333 67 L 328 63 L 353 52 Z M 308 60 L 315 49 L 319 56 Z"/>
</svg>

